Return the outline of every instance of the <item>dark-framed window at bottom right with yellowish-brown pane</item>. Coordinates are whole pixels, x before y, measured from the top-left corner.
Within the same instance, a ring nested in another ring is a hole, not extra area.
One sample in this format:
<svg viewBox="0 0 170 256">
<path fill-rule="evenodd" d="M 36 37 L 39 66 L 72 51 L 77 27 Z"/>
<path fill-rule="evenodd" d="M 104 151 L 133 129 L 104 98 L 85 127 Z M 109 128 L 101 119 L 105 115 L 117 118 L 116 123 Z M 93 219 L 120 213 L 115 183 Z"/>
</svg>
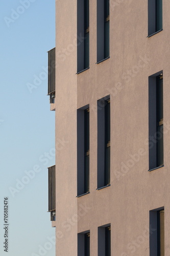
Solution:
<svg viewBox="0 0 170 256">
<path fill-rule="evenodd" d="M 164 208 L 150 211 L 150 256 L 164 256 Z"/>
</svg>

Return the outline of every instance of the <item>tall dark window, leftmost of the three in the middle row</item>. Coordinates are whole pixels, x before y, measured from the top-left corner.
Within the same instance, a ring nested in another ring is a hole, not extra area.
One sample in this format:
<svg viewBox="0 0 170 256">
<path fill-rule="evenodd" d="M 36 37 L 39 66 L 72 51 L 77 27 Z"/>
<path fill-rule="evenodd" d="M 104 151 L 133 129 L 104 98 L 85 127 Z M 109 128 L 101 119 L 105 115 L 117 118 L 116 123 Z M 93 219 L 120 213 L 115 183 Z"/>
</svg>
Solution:
<svg viewBox="0 0 170 256">
<path fill-rule="evenodd" d="M 89 193 L 89 106 L 77 111 L 77 185 L 78 196 Z"/>
</svg>

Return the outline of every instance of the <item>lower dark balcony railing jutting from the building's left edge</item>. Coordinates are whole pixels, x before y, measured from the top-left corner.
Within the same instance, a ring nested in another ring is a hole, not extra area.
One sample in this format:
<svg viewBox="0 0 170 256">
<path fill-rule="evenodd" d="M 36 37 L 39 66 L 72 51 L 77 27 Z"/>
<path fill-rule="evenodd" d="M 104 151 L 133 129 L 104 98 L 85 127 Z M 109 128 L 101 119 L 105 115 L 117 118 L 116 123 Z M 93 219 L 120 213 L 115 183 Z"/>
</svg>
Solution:
<svg viewBox="0 0 170 256">
<path fill-rule="evenodd" d="M 56 166 L 48 167 L 48 211 L 51 221 L 56 220 Z"/>
</svg>

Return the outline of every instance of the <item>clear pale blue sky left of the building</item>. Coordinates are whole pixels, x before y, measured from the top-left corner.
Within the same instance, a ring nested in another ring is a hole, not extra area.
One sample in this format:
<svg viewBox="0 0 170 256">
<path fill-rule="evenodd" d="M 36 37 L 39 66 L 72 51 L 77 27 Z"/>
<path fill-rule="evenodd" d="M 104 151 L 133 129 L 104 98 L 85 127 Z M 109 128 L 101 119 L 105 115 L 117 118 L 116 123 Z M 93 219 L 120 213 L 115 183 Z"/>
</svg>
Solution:
<svg viewBox="0 0 170 256">
<path fill-rule="evenodd" d="M 55 112 L 45 68 L 55 47 L 55 1 L 8 0 L 0 7 L 0 254 L 7 255 L 9 197 L 8 256 L 52 256 L 47 167 L 55 164 Z"/>
</svg>

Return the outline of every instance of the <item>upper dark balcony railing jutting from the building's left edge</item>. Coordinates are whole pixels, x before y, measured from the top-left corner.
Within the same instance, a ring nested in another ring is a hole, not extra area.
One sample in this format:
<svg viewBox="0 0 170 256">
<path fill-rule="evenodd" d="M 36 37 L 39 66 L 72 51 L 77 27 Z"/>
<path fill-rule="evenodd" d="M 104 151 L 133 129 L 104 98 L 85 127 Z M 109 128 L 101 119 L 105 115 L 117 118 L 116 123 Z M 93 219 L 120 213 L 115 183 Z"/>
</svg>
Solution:
<svg viewBox="0 0 170 256">
<path fill-rule="evenodd" d="M 56 48 L 48 51 L 48 95 L 54 103 L 56 94 Z"/>
</svg>

